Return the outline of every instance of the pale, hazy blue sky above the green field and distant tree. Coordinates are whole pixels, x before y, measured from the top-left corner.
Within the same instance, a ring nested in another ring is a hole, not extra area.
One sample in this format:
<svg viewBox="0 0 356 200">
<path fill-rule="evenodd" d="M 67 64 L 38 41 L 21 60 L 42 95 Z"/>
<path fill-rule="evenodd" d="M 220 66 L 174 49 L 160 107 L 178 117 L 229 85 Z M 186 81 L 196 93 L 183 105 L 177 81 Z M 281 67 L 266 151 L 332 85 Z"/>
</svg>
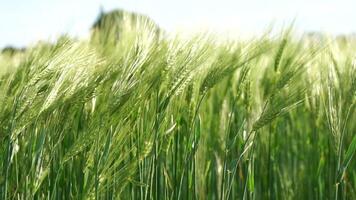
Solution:
<svg viewBox="0 0 356 200">
<path fill-rule="evenodd" d="M 168 31 L 264 31 L 296 19 L 299 31 L 356 32 L 355 0 L 0 0 L 0 48 L 69 33 L 84 37 L 104 10 L 123 8 L 152 17 Z"/>
</svg>

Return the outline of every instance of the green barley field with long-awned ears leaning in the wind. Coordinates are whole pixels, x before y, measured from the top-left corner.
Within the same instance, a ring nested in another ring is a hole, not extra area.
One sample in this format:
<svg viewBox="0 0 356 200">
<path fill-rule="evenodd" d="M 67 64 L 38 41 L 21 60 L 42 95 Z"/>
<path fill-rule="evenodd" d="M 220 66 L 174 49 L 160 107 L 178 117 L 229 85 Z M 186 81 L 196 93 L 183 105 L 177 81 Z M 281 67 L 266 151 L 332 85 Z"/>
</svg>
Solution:
<svg viewBox="0 0 356 200">
<path fill-rule="evenodd" d="M 124 19 L 0 54 L 0 199 L 356 199 L 356 40 Z"/>
</svg>

